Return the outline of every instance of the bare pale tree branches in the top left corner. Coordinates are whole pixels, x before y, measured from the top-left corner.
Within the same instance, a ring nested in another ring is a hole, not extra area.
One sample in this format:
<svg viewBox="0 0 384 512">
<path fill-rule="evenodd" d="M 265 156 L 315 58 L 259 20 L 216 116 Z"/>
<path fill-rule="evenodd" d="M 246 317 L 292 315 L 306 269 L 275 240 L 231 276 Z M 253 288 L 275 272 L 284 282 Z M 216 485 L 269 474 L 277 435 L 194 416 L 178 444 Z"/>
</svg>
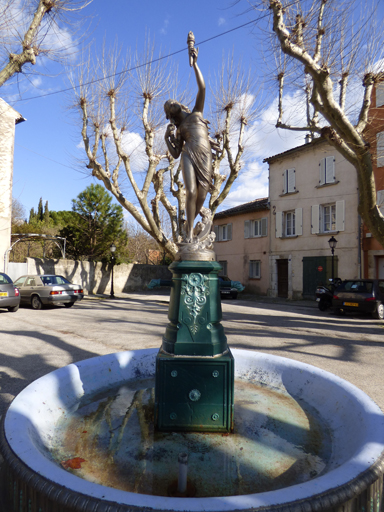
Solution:
<svg viewBox="0 0 384 512">
<path fill-rule="evenodd" d="M 0 0 L 0 87 L 36 64 L 73 53 L 76 16 L 92 0 Z"/>
</svg>

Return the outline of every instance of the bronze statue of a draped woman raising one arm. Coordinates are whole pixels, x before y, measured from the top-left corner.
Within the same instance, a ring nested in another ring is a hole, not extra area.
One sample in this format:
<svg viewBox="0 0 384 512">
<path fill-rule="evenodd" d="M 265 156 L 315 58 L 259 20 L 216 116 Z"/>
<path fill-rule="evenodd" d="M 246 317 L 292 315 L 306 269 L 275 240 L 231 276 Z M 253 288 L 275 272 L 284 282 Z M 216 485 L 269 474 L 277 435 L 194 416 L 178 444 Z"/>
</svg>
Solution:
<svg viewBox="0 0 384 512">
<path fill-rule="evenodd" d="M 176 100 L 164 105 L 170 124 L 165 142 L 173 158 L 181 154 L 181 166 L 186 190 L 187 242 L 193 241 L 193 224 L 207 193 L 212 189 L 212 152 L 208 137 L 208 121 L 203 117 L 205 82 L 197 65 L 197 50 L 189 45 L 189 58 L 195 70 L 198 92 L 192 112 Z M 176 136 L 174 130 L 176 127 Z"/>
</svg>

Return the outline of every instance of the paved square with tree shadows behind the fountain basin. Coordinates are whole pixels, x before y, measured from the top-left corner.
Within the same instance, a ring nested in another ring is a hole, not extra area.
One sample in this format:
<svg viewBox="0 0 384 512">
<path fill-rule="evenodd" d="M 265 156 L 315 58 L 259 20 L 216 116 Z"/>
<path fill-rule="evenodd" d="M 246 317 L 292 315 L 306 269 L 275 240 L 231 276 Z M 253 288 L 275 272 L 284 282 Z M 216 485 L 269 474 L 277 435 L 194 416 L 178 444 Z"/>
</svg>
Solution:
<svg viewBox="0 0 384 512">
<path fill-rule="evenodd" d="M 159 347 L 166 295 L 85 298 L 71 309 L 0 311 L 0 415 L 27 384 L 89 357 Z M 384 322 L 336 317 L 309 304 L 223 302 L 233 348 L 261 350 L 313 364 L 349 380 L 384 410 Z"/>
</svg>

